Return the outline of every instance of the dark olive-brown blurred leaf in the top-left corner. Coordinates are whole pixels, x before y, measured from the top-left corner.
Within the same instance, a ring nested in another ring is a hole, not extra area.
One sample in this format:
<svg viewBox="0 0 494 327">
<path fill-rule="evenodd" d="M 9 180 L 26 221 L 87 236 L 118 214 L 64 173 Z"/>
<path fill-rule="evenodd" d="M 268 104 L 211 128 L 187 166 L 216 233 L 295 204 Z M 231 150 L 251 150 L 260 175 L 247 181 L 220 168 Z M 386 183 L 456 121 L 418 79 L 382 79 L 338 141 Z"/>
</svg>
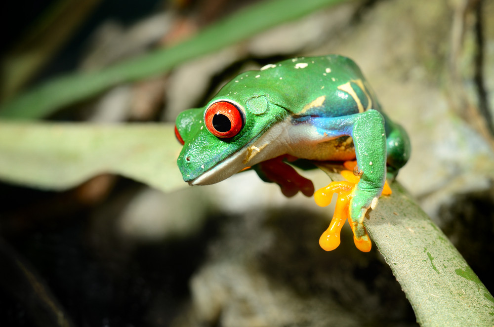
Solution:
<svg viewBox="0 0 494 327">
<path fill-rule="evenodd" d="M 0 98 L 12 96 L 72 36 L 100 0 L 58 0 L 2 62 Z"/>
</svg>

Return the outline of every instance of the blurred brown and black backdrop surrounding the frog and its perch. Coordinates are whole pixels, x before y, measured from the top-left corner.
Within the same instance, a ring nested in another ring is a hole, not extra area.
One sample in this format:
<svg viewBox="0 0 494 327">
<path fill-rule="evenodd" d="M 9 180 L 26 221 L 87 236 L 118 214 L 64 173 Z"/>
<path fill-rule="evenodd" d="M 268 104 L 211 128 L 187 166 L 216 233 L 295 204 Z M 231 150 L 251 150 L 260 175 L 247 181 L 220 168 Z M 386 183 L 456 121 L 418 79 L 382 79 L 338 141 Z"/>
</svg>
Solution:
<svg viewBox="0 0 494 327">
<path fill-rule="evenodd" d="M 3 4 L 0 119 L 172 124 L 243 71 L 295 56 L 349 56 L 411 137 L 398 181 L 492 293 L 494 1 L 328 1 L 232 39 L 293 1 L 271 2 Z M 222 25 L 252 6 L 261 14 Z M 216 48 L 180 48 L 211 27 Z M 159 51 L 174 47 L 179 59 L 165 67 Z M 51 81 L 67 87 L 42 88 Z M 11 110 L 24 99 L 36 104 L 28 99 L 36 92 L 51 99 L 44 109 Z M 32 161 L 33 175 L 48 169 L 44 147 L 36 145 L 38 157 L 15 152 L 28 142 L 22 133 L 0 131 L 0 140 L 11 147 L 0 156 Z M 340 247 L 324 252 L 317 240 L 331 209 L 302 195 L 285 199 L 252 171 L 164 192 L 112 169 L 66 190 L 31 185 L 29 176 L 16 182 L 1 169 L 2 326 L 416 326 L 375 248 L 359 252 L 345 226 Z M 160 170 L 180 178 L 174 165 Z M 304 175 L 316 189 L 329 182 L 322 172 Z"/>
</svg>

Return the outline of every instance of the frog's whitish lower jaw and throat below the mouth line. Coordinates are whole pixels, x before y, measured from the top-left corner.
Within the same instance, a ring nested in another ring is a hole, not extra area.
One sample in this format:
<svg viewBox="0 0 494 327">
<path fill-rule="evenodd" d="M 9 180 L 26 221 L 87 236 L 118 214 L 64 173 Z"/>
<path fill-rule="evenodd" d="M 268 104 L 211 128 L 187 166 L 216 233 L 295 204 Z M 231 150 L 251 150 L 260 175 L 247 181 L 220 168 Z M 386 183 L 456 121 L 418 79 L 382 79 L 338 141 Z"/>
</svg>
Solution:
<svg viewBox="0 0 494 327">
<path fill-rule="evenodd" d="M 285 154 L 287 135 L 282 134 L 287 131 L 283 122 L 272 125 L 265 133 L 261 133 L 260 137 L 250 141 L 235 154 L 189 181 L 189 185 L 218 183 L 249 166 Z"/>
</svg>

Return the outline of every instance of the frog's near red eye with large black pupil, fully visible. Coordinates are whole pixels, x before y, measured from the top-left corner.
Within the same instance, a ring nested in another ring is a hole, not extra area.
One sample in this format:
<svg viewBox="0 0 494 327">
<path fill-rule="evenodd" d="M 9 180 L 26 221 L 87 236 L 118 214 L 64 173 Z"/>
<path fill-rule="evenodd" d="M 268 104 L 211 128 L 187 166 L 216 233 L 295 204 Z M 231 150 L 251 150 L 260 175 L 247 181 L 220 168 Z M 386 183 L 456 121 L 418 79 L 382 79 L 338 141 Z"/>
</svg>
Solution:
<svg viewBox="0 0 494 327">
<path fill-rule="evenodd" d="M 209 106 L 204 115 L 207 129 L 214 136 L 231 138 L 244 127 L 243 114 L 231 102 L 218 101 Z"/>
</svg>

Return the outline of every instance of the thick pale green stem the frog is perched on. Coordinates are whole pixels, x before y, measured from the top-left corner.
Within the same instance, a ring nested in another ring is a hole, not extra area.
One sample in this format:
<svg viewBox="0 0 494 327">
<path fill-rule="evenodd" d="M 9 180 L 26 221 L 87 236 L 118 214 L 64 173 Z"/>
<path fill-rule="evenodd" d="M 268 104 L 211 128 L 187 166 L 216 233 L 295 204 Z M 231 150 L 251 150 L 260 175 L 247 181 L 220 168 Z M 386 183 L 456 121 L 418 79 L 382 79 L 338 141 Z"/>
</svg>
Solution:
<svg viewBox="0 0 494 327">
<path fill-rule="evenodd" d="M 332 165 L 318 165 L 341 180 Z M 494 298 L 446 235 L 397 182 L 364 225 L 421 326 L 493 326 Z"/>
</svg>

